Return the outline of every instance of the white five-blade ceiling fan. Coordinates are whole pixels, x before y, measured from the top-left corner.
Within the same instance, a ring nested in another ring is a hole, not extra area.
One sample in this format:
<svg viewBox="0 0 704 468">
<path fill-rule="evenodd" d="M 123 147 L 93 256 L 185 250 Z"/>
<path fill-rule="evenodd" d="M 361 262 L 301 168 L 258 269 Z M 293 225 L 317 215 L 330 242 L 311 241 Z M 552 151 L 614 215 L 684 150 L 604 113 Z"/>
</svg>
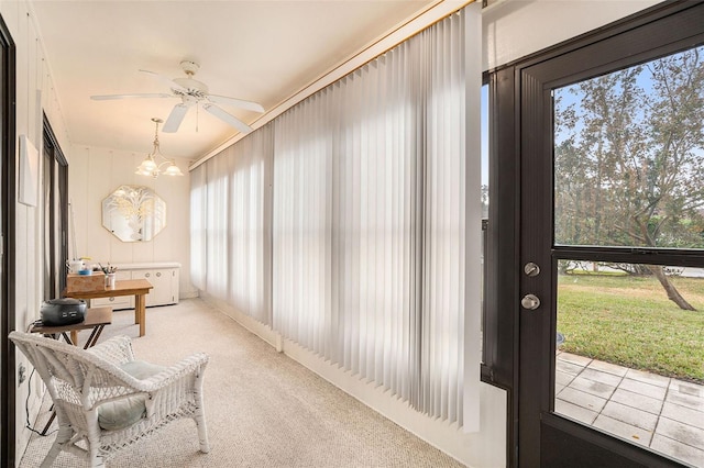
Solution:
<svg viewBox="0 0 704 468">
<path fill-rule="evenodd" d="M 170 93 L 157 92 L 157 93 L 143 93 L 143 94 L 103 94 L 91 96 L 90 99 L 96 101 L 106 101 L 111 99 L 131 99 L 131 98 L 180 98 L 180 103 L 174 105 L 170 114 L 166 119 L 162 132 L 174 133 L 178 131 L 180 123 L 186 116 L 186 112 L 194 105 L 200 105 L 207 112 L 217 116 L 221 121 L 235 127 L 240 132 L 249 133 L 252 127 L 240 119 L 224 111 L 217 104 L 232 105 L 240 109 L 246 109 L 254 112 L 264 112 L 264 108 L 252 101 L 243 101 L 242 99 L 228 98 L 226 96 L 211 94 L 208 92 L 208 86 L 201 81 L 194 79 L 194 75 L 200 68 L 198 64 L 190 60 L 183 60 L 180 67 L 186 74 L 186 78 L 170 79 L 164 75 L 156 74 L 148 70 L 140 70 L 145 74 L 150 74 L 162 81 L 166 82 L 170 88 Z"/>
</svg>

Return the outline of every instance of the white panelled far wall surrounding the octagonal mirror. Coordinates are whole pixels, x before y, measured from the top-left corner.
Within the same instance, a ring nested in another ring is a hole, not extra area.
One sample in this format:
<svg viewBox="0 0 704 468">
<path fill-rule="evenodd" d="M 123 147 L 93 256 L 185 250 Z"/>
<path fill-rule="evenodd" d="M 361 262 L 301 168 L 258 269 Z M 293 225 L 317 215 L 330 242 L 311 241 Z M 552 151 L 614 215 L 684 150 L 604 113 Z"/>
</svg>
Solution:
<svg viewBox="0 0 704 468">
<path fill-rule="evenodd" d="M 190 283 L 189 198 L 190 177 L 188 160 L 176 165 L 184 177 L 138 176 L 136 167 L 152 149 L 144 142 L 144 153 L 75 145 L 68 166 L 68 197 L 76 226 L 76 253 L 69 242 L 69 257 L 90 257 L 90 263 L 134 264 L 145 261 L 178 261 L 180 298 L 197 297 Z M 145 186 L 166 202 L 166 227 L 152 241 L 122 242 L 102 226 L 102 200 L 119 186 Z M 73 236 L 69 226 L 69 236 Z"/>
</svg>

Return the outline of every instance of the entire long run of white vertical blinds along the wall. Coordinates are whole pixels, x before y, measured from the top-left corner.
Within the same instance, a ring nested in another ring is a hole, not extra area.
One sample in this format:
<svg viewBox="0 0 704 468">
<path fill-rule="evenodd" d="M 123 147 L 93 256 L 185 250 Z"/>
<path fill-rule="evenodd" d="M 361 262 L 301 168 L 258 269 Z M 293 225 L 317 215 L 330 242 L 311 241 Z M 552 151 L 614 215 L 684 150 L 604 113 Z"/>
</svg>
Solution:
<svg viewBox="0 0 704 468">
<path fill-rule="evenodd" d="M 198 288 L 465 427 L 479 408 L 463 395 L 479 382 L 481 226 L 468 131 L 481 22 L 466 10 L 191 174 Z"/>
</svg>

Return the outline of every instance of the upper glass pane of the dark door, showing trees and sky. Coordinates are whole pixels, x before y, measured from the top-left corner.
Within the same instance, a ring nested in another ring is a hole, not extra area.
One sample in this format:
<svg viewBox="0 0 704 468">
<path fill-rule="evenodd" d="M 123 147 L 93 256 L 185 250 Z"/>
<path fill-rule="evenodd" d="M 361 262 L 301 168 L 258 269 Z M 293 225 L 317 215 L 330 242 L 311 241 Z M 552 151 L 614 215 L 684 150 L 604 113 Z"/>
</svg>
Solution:
<svg viewBox="0 0 704 468">
<path fill-rule="evenodd" d="M 553 91 L 558 245 L 704 247 L 704 46 Z"/>
</svg>

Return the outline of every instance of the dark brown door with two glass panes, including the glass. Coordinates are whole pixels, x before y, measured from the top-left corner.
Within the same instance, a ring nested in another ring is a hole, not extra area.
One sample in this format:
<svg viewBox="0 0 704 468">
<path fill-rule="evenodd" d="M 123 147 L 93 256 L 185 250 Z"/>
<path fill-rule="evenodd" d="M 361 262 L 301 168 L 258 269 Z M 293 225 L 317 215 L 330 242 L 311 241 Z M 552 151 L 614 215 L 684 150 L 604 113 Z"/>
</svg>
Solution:
<svg viewBox="0 0 704 468">
<path fill-rule="evenodd" d="M 704 5 L 517 71 L 519 465 L 704 467 Z"/>
</svg>

